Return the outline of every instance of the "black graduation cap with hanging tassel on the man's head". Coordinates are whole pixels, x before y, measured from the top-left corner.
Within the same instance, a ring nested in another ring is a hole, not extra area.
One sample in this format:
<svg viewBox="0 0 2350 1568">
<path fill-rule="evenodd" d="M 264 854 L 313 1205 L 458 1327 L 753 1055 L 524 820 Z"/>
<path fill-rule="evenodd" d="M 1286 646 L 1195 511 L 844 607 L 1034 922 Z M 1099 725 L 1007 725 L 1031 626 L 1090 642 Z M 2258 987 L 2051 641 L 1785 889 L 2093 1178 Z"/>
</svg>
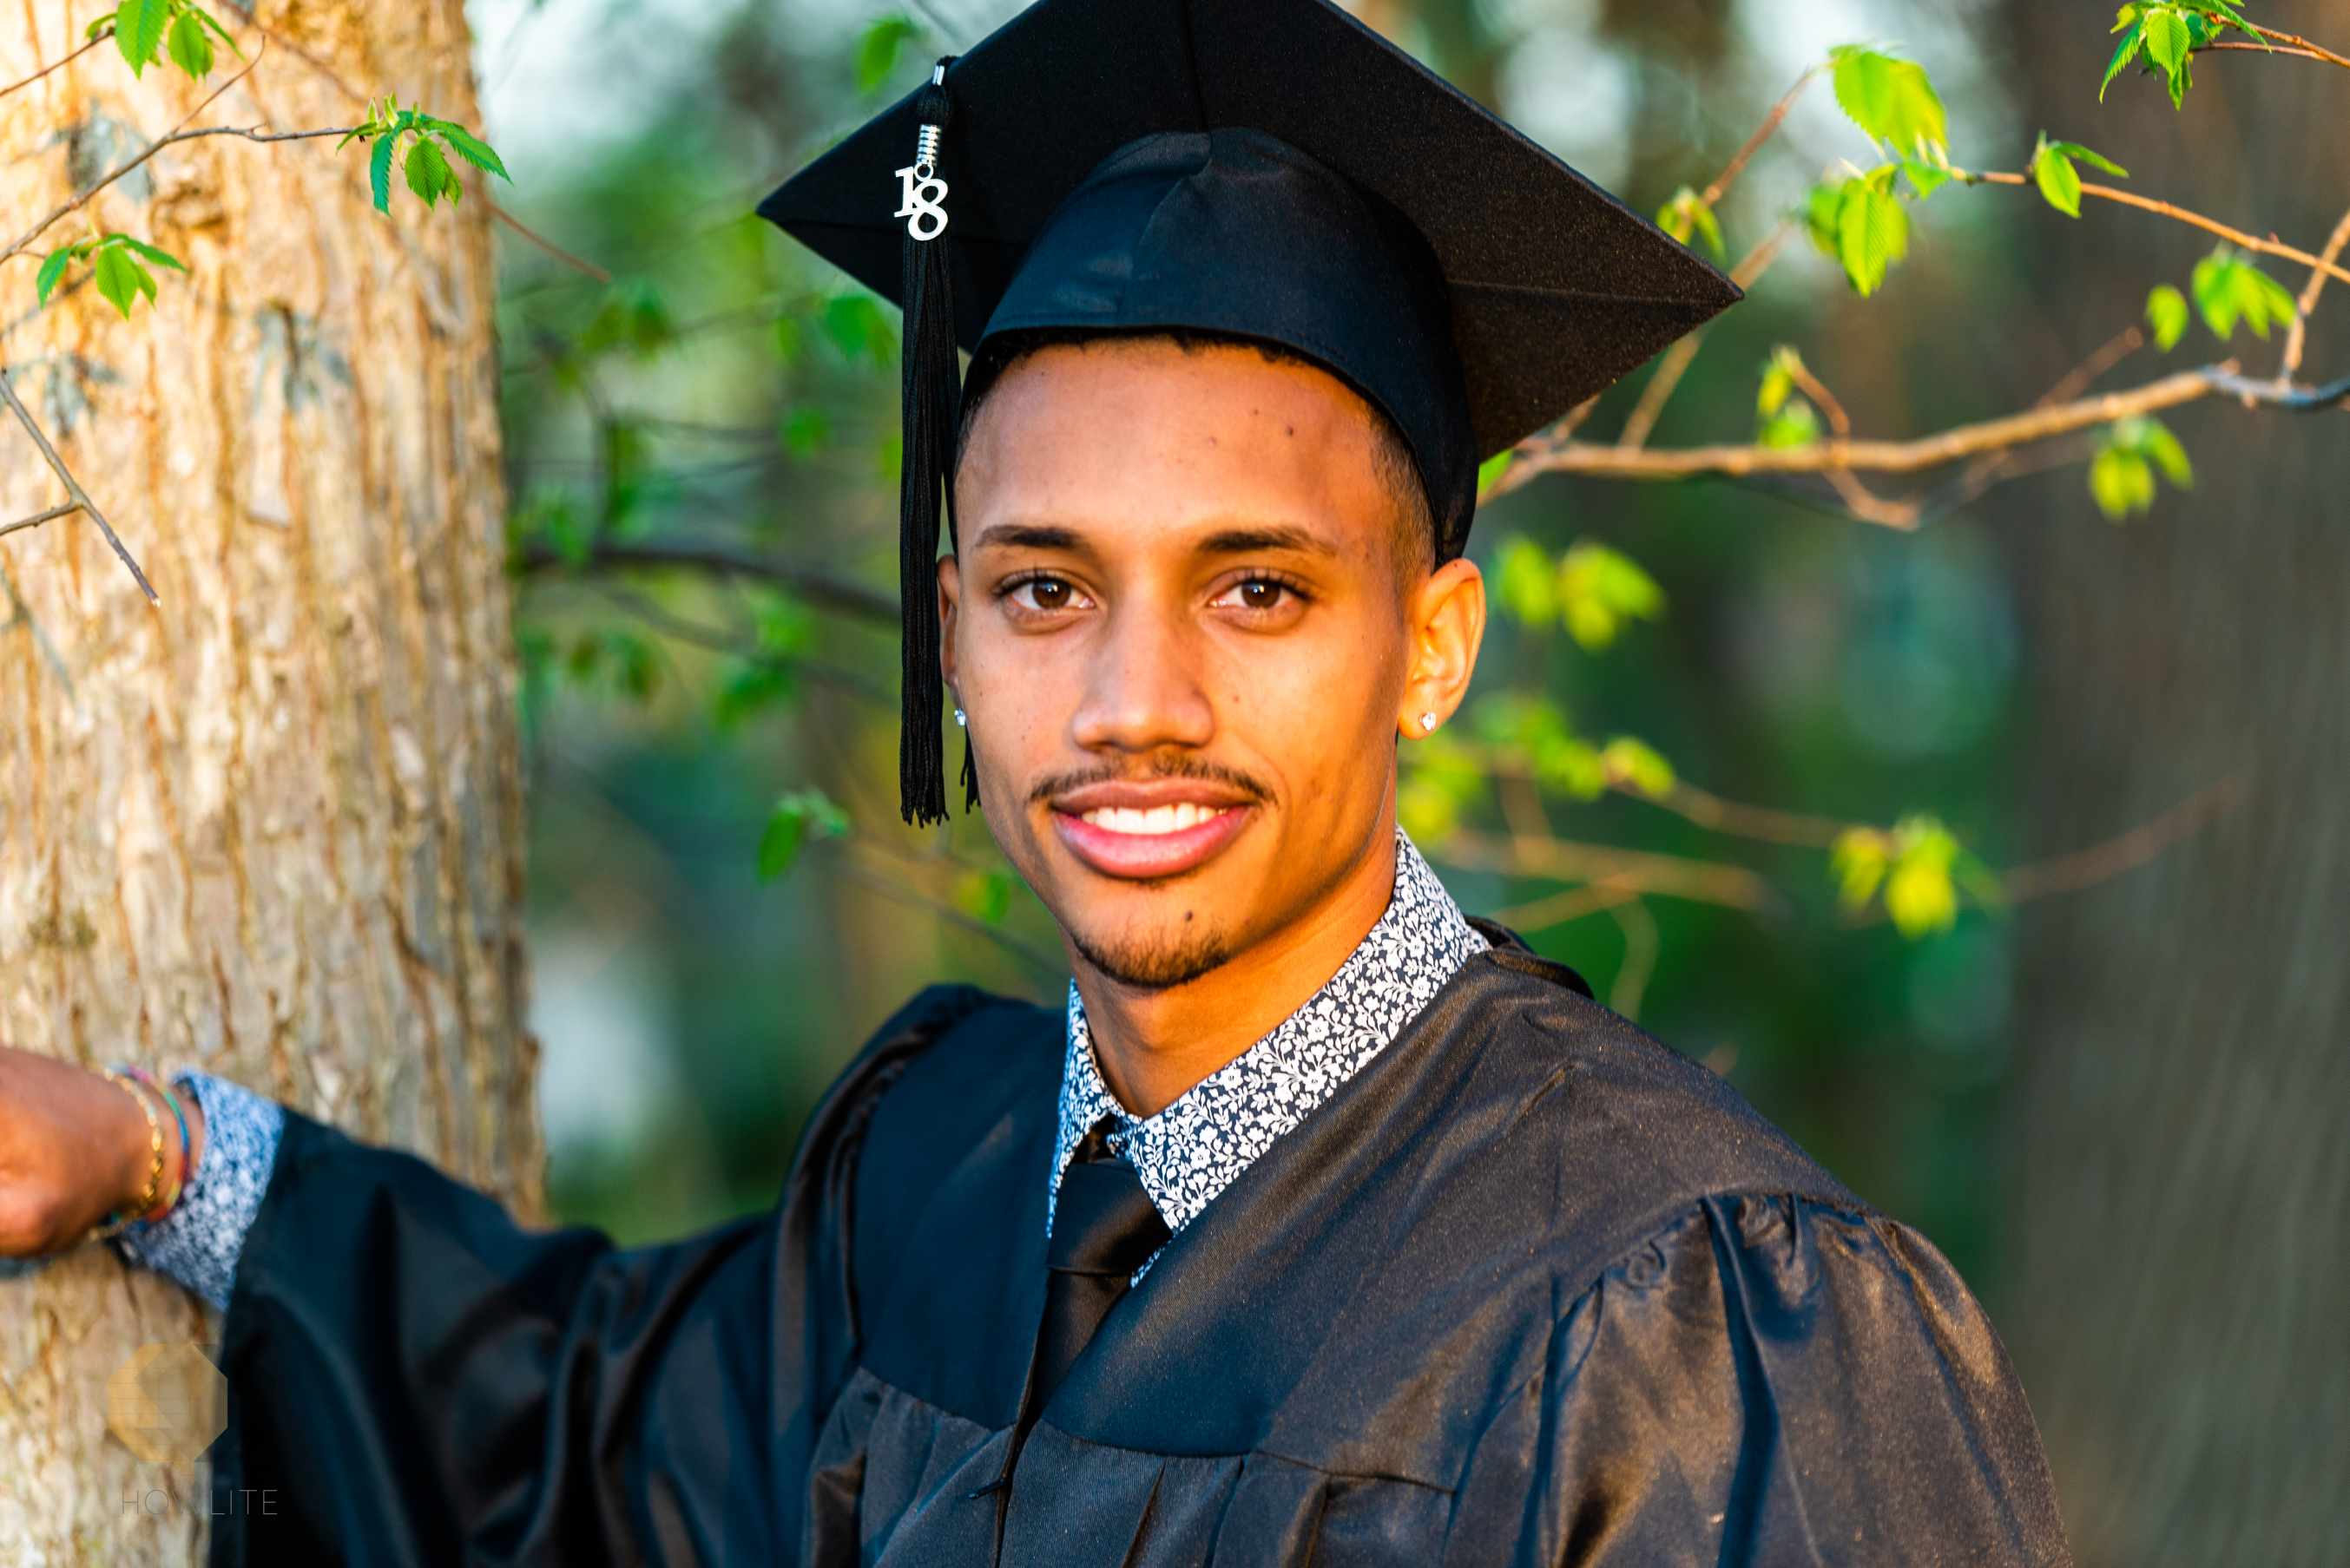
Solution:
<svg viewBox="0 0 2350 1568">
<path fill-rule="evenodd" d="M 933 575 L 956 413 L 1022 333 L 1170 329 L 1328 369 L 1401 432 L 1443 561 L 1480 460 L 1741 298 L 1328 0 L 1039 0 L 759 216 L 905 307 L 914 824 L 947 815 Z M 978 803 L 968 737 L 964 789 Z"/>
</svg>

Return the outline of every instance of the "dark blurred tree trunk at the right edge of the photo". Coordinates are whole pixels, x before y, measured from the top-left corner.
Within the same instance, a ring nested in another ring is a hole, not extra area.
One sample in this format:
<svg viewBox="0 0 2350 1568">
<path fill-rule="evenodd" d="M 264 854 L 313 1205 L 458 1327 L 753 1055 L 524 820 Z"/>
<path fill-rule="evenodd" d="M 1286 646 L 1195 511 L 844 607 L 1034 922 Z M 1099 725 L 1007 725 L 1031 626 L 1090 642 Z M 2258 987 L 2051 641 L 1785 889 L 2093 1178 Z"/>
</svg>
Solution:
<svg viewBox="0 0 2350 1568">
<path fill-rule="evenodd" d="M 2331 0 L 2263 5 L 2258 21 L 2345 45 Z M 2026 124 L 2084 134 L 2148 195 L 2324 244 L 2350 202 L 2350 75 L 2209 54 L 2181 113 L 2129 75 L 2094 117 L 2101 28 L 2009 5 L 1993 35 L 2035 40 L 2016 52 Z M 2122 326 L 2150 284 L 2186 286 L 2211 249 L 2113 207 L 2033 232 L 2033 291 L 2052 315 L 2094 305 L 2054 324 L 2061 354 Z M 2296 293 L 2308 279 L 2261 265 Z M 2305 380 L 2350 369 L 2338 317 L 2345 286 L 2312 317 Z M 2240 329 L 2221 347 L 2197 324 L 2171 359 L 2240 354 L 2270 376 L 2280 340 Z M 2108 383 L 2160 369 L 2143 352 Z M 2343 418 L 2223 399 L 2178 411 L 2195 488 L 2122 530 L 2075 474 L 2005 493 L 2033 624 L 2026 756 L 2044 843 L 2087 843 L 2244 779 L 2216 829 L 2021 915 L 2021 1167 L 2000 1326 L 2084 1568 L 2350 1561 Z"/>
</svg>

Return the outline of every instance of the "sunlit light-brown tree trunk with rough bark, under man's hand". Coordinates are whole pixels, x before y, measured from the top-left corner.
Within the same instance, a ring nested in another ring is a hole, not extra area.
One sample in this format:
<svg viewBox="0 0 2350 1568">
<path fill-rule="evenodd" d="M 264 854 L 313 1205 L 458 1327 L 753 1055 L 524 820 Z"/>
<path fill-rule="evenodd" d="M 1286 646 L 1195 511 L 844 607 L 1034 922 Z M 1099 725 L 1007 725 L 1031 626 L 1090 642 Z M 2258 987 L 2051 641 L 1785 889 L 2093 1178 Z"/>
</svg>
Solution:
<svg viewBox="0 0 2350 1568">
<path fill-rule="evenodd" d="M 461 0 L 233 7 L 258 66 L 193 124 L 477 124 Z M 19 0 L 0 82 L 82 42 Z M 263 47 L 261 31 L 268 31 Z M 0 96 L 0 242 L 136 157 L 204 85 L 113 42 Z M 0 364 L 160 594 L 87 516 L 0 540 L 0 1038 L 195 1063 L 409 1145 L 538 1218 L 489 211 L 369 207 L 364 148 L 164 148 L 0 265 Z M 395 176 L 397 185 L 397 176 Z M 38 258 L 181 256 L 120 319 Z M 63 500 L 0 411 L 0 523 Z M 108 1376 L 204 1343 L 176 1286 L 82 1249 L 0 1284 L 0 1559 L 179 1563 L 202 1476 L 108 1434 Z"/>
</svg>

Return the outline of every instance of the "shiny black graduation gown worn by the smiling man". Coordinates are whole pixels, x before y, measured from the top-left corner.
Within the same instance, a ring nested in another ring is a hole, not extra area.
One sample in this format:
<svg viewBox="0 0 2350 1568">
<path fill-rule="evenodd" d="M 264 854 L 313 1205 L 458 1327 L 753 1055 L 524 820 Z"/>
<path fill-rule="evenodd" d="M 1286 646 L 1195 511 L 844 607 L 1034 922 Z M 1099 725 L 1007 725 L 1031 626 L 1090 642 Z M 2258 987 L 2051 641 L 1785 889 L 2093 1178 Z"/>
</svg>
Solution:
<svg viewBox="0 0 2350 1568">
<path fill-rule="evenodd" d="M 933 986 L 776 1209 L 613 1249 L 289 1115 L 242 1563 L 2066 1563 L 1950 1265 L 1502 927 L 1010 1448 L 1062 1014 Z"/>
</svg>

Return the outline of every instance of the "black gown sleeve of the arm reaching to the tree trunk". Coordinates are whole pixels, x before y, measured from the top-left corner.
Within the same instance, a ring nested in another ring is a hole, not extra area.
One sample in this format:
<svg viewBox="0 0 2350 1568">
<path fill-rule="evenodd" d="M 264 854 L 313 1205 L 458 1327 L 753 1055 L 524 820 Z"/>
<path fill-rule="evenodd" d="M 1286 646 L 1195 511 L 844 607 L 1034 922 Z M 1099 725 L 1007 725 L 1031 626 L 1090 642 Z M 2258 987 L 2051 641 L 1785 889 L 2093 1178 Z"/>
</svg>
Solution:
<svg viewBox="0 0 2350 1568">
<path fill-rule="evenodd" d="M 287 1110 L 221 1324 L 212 1568 L 797 1561 L 865 1124 L 978 995 L 881 1026 L 773 1209 L 658 1246 L 524 1228 Z"/>
</svg>

